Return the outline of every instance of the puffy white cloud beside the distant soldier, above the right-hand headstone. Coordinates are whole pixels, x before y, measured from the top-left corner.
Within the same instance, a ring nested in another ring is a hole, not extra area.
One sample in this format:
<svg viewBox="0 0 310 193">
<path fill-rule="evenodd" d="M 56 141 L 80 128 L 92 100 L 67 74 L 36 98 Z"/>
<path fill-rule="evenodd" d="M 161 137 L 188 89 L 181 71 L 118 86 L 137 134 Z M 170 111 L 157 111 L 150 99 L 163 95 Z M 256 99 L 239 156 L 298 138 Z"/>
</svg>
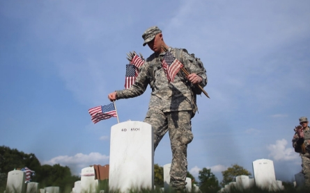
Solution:
<svg viewBox="0 0 310 193">
<path fill-rule="evenodd" d="M 298 153 L 295 153 L 292 147 L 286 147 L 288 142 L 285 139 L 277 140 L 276 144 L 270 144 L 267 149 L 270 151 L 269 157 L 276 161 L 279 160 L 295 160 L 298 158 Z"/>
</svg>

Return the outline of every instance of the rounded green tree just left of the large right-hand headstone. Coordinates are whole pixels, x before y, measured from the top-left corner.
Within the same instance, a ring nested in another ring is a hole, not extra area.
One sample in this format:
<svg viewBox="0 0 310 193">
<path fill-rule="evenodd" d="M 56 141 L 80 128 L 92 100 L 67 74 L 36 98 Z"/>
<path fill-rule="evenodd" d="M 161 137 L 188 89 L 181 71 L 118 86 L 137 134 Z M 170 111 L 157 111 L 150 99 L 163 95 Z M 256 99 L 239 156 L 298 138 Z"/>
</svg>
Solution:
<svg viewBox="0 0 310 193">
<path fill-rule="evenodd" d="M 221 183 L 222 187 L 224 187 L 226 184 L 232 182 L 236 176 L 251 176 L 251 173 L 247 171 L 247 169 L 241 167 L 240 165 L 231 165 L 231 167 L 228 167 L 225 171 L 222 171 L 223 175 L 223 181 Z"/>
</svg>

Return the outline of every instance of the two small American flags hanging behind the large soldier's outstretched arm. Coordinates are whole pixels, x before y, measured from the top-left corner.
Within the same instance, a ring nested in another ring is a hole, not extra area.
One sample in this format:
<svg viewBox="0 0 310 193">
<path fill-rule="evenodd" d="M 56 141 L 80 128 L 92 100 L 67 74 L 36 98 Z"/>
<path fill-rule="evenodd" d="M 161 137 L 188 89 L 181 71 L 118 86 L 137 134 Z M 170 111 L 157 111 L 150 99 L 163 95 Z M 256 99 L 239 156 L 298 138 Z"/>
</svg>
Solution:
<svg viewBox="0 0 310 193">
<path fill-rule="evenodd" d="M 144 64 L 144 60 L 137 54 L 132 57 L 129 65 L 126 65 L 125 89 L 130 88 L 139 74 L 139 67 Z"/>
</svg>

